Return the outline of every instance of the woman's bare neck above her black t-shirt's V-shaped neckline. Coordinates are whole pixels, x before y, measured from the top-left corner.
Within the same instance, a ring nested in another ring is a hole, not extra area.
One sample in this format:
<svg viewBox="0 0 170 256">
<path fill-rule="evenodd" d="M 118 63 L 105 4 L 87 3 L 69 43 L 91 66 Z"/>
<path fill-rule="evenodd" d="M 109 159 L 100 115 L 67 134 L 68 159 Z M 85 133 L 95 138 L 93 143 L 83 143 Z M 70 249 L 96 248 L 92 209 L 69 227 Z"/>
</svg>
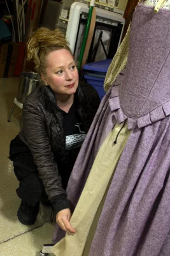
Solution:
<svg viewBox="0 0 170 256">
<path fill-rule="evenodd" d="M 74 94 L 72 95 L 59 95 L 55 93 L 55 99 L 57 100 L 57 106 L 68 113 L 69 109 L 74 102 Z"/>
</svg>

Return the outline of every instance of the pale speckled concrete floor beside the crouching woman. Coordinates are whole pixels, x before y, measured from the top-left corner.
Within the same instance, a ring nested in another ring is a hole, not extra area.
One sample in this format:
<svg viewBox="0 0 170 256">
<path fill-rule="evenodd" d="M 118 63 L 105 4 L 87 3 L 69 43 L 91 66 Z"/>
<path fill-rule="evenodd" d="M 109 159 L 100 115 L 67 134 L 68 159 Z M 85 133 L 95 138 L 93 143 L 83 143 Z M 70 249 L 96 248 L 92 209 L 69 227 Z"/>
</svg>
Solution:
<svg viewBox="0 0 170 256">
<path fill-rule="evenodd" d="M 22 110 L 15 107 L 11 122 L 7 122 L 17 96 L 19 77 L 0 78 L 0 255 L 38 256 L 44 243 L 52 243 L 55 223 L 50 223 L 50 207 L 40 205 L 34 225 L 22 225 L 17 219 L 20 199 L 15 189 L 18 180 L 13 163 L 8 159 L 10 141 L 20 131 Z M 48 253 L 48 256 L 53 255 Z"/>
</svg>

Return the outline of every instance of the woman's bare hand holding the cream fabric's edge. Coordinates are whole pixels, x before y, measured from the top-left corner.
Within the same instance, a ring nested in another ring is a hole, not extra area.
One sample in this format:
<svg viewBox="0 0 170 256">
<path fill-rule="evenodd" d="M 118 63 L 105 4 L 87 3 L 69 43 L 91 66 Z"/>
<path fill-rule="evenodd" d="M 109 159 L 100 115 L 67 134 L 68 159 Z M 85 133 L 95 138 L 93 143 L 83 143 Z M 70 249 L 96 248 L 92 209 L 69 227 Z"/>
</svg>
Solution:
<svg viewBox="0 0 170 256">
<path fill-rule="evenodd" d="M 71 234 L 75 234 L 76 230 L 71 227 L 69 220 L 71 219 L 71 211 L 70 209 L 64 209 L 59 211 L 56 215 L 56 222 L 59 224 L 62 230 L 69 232 Z"/>
</svg>

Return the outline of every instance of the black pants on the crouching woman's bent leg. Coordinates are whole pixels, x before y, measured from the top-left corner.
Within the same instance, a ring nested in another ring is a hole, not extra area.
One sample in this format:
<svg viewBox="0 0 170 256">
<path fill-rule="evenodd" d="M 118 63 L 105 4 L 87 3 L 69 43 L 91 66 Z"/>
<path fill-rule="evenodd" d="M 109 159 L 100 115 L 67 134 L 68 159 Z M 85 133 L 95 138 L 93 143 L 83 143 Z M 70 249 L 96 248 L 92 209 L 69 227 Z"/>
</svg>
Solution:
<svg viewBox="0 0 170 256">
<path fill-rule="evenodd" d="M 19 180 L 17 195 L 29 205 L 39 201 L 48 202 L 43 182 L 39 178 L 31 151 L 18 136 L 10 143 L 10 160 L 13 161 L 14 172 Z"/>
</svg>

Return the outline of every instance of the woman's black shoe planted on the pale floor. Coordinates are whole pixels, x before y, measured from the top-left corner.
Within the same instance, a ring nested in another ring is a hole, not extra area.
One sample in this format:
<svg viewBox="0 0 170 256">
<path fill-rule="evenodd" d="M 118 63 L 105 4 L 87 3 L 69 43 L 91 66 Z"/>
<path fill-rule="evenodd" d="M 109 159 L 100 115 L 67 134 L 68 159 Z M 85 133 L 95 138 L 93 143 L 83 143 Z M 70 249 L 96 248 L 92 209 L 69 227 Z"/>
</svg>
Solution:
<svg viewBox="0 0 170 256">
<path fill-rule="evenodd" d="M 20 207 L 17 212 L 18 220 L 24 225 L 33 225 L 39 212 L 39 203 L 31 206 L 21 201 Z"/>
</svg>

